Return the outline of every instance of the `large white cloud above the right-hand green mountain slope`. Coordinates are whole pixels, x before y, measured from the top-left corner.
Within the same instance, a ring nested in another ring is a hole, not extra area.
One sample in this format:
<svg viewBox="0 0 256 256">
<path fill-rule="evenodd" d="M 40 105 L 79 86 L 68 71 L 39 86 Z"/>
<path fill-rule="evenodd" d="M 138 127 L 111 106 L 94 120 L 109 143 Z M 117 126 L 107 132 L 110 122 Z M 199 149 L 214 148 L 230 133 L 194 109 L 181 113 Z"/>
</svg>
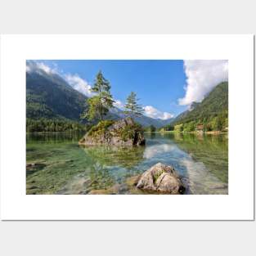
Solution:
<svg viewBox="0 0 256 256">
<path fill-rule="evenodd" d="M 186 94 L 178 99 L 179 105 L 202 101 L 218 83 L 228 80 L 227 61 L 184 61 L 184 69 Z"/>
</svg>

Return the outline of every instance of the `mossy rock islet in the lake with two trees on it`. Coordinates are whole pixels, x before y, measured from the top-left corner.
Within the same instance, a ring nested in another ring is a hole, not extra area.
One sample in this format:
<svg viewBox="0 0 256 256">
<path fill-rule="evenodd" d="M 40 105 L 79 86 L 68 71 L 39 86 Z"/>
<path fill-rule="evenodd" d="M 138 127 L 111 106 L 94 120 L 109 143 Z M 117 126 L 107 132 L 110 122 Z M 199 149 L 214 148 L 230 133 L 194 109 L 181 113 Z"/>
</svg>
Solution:
<svg viewBox="0 0 256 256">
<path fill-rule="evenodd" d="M 101 121 L 79 141 L 80 145 L 145 145 L 143 129 L 131 118 Z"/>
</svg>

